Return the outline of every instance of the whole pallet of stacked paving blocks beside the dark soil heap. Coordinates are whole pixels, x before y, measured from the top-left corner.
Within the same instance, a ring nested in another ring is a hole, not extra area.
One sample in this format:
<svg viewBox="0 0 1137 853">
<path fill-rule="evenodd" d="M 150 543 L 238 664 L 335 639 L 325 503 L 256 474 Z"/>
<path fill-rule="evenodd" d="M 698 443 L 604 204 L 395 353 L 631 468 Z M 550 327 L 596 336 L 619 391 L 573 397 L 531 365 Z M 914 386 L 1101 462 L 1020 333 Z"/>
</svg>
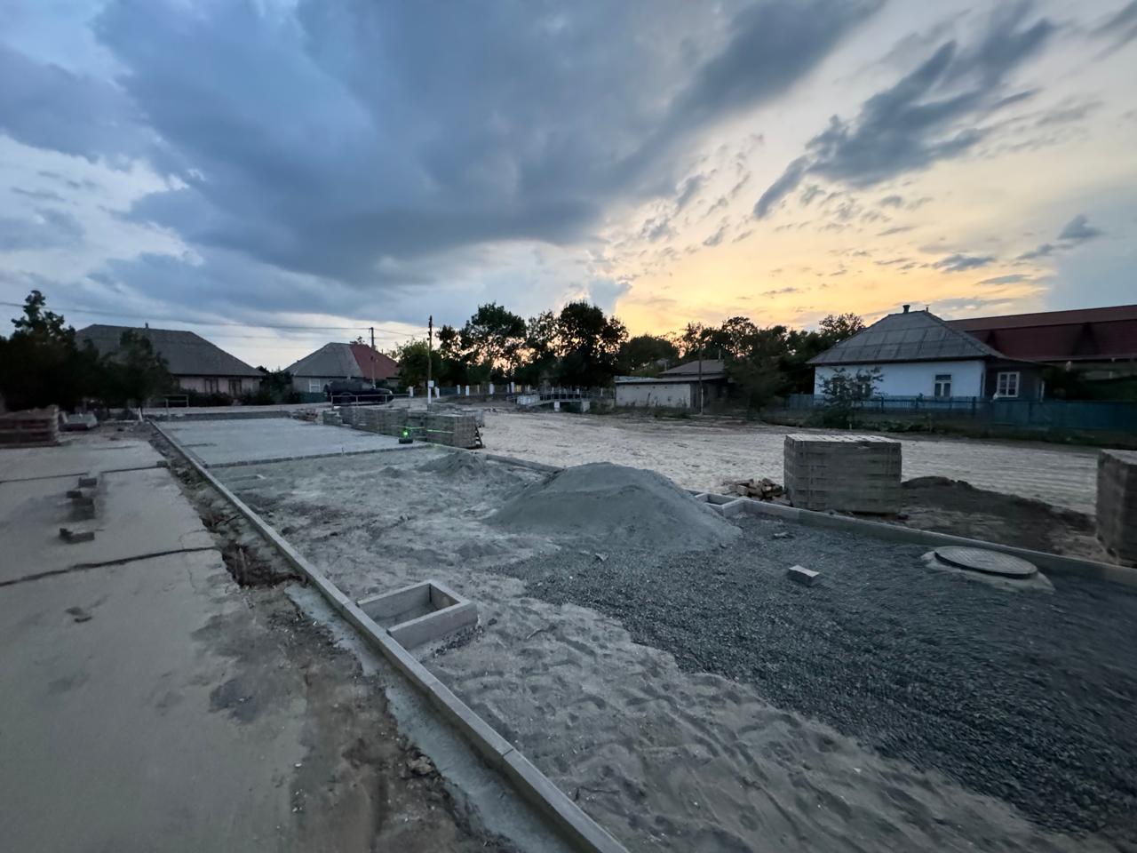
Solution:
<svg viewBox="0 0 1137 853">
<path fill-rule="evenodd" d="M 787 436 L 786 494 L 820 512 L 901 511 L 901 442 L 879 436 Z"/>
</svg>

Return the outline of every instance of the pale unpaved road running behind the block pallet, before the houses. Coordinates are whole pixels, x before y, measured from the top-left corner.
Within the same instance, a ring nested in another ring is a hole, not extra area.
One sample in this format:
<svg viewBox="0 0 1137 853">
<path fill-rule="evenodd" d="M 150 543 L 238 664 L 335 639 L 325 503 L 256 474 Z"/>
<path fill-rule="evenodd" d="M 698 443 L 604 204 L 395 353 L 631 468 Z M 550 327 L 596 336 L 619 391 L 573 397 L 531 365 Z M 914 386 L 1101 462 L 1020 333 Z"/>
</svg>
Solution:
<svg viewBox="0 0 1137 853">
<path fill-rule="evenodd" d="M 782 481 L 782 445 L 799 429 L 740 421 L 656 420 L 567 413 L 485 413 L 491 453 L 551 465 L 614 462 L 649 467 L 689 489 L 723 480 Z M 897 437 L 899 438 L 899 437 Z M 904 479 L 947 477 L 991 491 L 1093 514 L 1096 450 L 905 436 Z"/>
</svg>

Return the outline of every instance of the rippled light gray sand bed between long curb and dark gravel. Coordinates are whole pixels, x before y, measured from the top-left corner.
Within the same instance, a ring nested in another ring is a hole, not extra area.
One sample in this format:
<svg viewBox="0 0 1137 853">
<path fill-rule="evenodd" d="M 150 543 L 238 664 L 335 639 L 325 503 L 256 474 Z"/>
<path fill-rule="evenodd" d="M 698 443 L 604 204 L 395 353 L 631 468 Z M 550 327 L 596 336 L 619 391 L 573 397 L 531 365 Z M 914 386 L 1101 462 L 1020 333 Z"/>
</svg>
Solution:
<svg viewBox="0 0 1137 853">
<path fill-rule="evenodd" d="M 684 672 L 615 619 L 542 601 L 539 581 L 526 588 L 503 566 L 579 560 L 584 544 L 487 523 L 540 475 L 483 461 L 422 470 L 441 453 L 222 474 L 356 597 L 433 577 L 475 601 L 481 626 L 423 649 L 428 664 L 629 850 L 1115 848 L 885 759 L 752 684 Z M 589 543 L 590 564 L 615 546 L 619 536 Z"/>
</svg>

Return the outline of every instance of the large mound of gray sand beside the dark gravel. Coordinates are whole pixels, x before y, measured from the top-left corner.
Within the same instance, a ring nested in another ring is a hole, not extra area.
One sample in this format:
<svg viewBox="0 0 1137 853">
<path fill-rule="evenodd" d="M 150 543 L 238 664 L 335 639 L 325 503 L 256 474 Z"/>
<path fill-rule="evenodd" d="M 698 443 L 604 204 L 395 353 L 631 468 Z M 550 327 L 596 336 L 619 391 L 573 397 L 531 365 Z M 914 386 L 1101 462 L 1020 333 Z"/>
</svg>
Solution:
<svg viewBox="0 0 1137 853">
<path fill-rule="evenodd" d="M 490 519 L 508 530 L 603 539 L 609 548 L 696 550 L 738 528 L 671 480 L 644 469 L 576 465 L 523 489 Z"/>
</svg>

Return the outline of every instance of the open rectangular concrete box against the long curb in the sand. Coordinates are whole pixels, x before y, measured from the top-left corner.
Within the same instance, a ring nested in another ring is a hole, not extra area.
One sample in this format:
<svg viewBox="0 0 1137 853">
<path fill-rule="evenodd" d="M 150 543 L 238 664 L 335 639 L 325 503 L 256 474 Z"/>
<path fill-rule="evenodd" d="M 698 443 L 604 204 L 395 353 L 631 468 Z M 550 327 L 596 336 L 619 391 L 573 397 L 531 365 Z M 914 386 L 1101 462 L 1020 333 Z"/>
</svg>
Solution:
<svg viewBox="0 0 1137 853">
<path fill-rule="evenodd" d="M 474 603 L 437 580 L 360 598 L 356 604 L 404 648 L 478 624 Z"/>
</svg>

